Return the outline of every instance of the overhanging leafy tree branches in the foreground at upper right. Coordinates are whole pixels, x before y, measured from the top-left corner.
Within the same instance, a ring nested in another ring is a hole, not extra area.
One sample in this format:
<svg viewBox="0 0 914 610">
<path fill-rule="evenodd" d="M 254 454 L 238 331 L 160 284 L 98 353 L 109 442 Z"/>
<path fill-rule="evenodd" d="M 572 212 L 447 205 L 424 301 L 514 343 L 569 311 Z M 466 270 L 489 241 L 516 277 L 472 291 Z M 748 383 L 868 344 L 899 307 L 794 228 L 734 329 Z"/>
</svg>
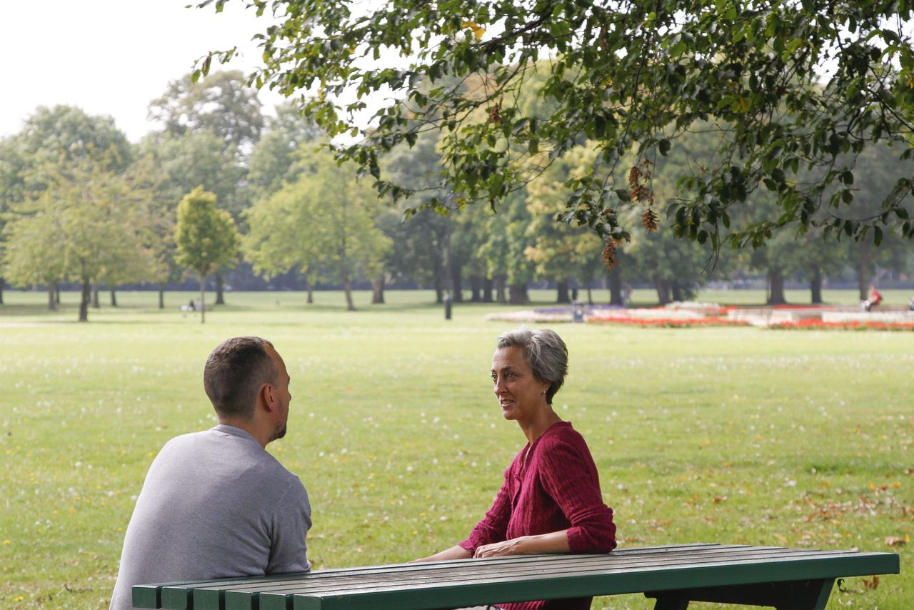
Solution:
<svg viewBox="0 0 914 610">
<path fill-rule="evenodd" d="M 198 6 L 220 10 L 227 1 Z M 723 243 L 758 246 L 778 230 L 814 224 L 826 235 L 840 230 L 862 238 L 868 228 L 893 226 L 914 236 L 914 178 L 893 177 L 877 214 L 859 219 L 846 209 L 856 196 L 850 167 L 838 162 L 870 142 L 893 143 L 901 157 L 914 154 L 908 4 L 353 4 L 250 2 L 283 16 L 259 36 L 263 64 L 250 81 L 300 99 L 330 137 L 359 135 L 345 156 L 377 178 L 381 193 L 406 198 L 411 189 L 381 176 L 379 155 L 414 144 L 430 129 L 444 134 L 443 165 L 458 203 L 495 205 L 526 180 L 530 155 L 558 157 L 586 137 L 597 143 L 601 163 L 614 166 L 633 153 L 638 166 L 705 122 L 732 137 L 719 142 L 718 166 L 682 176 L 689 195 L 673 210 L 676 236 L 715 251 Z M 378 66 L 371 59 L 382 52 L 405 59 Z M 233 54 L 210 53 L 197 74 L 206 74 L 213 58 Z M 538 117 L 524 112 L 517 97 L 544 57 L 548 74 L 539 95 L 550 111 Z M 483 86 L 464 89 L 469 77 Z M 392 101 L 366 124 L 359 112 L 377 91 L 392 91 Z M 812 183 L 796 179 L 811 167 L 819 170 Z M 588 175 L 569 186 L 562 219 L 588 225 L 610 246 L 628 239 L 618 215 L 629 205 L 627 187 Z M 759 188 L 777 195 L 776 213 L 728 230 L 730 214 Z"/>
</svg>

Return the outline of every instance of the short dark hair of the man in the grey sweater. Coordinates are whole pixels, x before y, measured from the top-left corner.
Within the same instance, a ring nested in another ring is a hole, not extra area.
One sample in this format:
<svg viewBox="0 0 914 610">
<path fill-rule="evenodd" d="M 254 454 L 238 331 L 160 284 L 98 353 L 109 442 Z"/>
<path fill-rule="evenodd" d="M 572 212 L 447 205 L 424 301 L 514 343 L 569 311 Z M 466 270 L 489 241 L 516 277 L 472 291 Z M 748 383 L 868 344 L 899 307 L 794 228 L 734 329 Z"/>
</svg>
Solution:
<svg viewBox="0 0 914 610">
<path fill-rule="evenodd" d="M 264 383 L 276 384 L 279 371 L 260 337 L 233 337 L 209 354 L 203 368 L 203 388 L 218 415 L 250 420 L 257 392 Z"/>
</svg>

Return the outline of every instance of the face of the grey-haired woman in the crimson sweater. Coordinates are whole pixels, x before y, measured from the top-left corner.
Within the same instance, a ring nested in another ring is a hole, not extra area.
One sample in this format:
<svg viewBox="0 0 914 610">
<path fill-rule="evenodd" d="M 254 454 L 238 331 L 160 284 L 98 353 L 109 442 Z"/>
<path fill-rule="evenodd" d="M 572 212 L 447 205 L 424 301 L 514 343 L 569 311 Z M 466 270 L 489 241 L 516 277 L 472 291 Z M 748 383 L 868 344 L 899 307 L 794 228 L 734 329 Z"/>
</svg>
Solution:
<svg viewBox="0 0 914 610">
<path fill-rule="evenodd" d="M 546 407 L 549 384 L 537 380 L 524 359 L 523 348 L 496 349 L 492 357 L 495 396 L 506 420 L 524 422 Z"/>
</svg>

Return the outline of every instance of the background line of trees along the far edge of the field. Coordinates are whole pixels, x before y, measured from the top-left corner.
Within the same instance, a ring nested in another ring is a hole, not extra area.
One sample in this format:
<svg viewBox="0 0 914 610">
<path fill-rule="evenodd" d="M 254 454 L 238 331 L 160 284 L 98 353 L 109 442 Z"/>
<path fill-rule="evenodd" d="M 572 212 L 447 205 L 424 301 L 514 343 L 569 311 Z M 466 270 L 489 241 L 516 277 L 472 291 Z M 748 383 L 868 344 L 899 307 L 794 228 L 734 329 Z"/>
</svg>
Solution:
<svg viewBox="0 0 914 610">
<path fill-rule="evenodd" d="M 526 114 L 549 112 L 538 107 L 543 85 L 527 80 L 516 101 Z M 451 291 L 455 301 L 467 292 L 477 301 L 524 304 L 527 287 L 546 279 L 556 284 L 558 303 L 569 302 L 572 286 L 592 301 L 590 288 L 608 285 L 620 305 L 625 284 L 649 283 L 664 304 L 691 297 L 710 277 L 737 273 L 765 273 L 772 304 L 784 301 L 785 280 L 802 278 L 814 303 L 827 277 L 856 270 L 863 297 L 877 266 L 911 269 L 910 242 L 891 233 L 824 241 L 815 228 L 780 231 L 757 249 L 719 254 L 700 235 L 679 239 L 676 218 L 686 210 L 678 193 L 688 186 L 681 176 L 712 171 L 717 139 L 726 137 L 700 124 L 666 155 L 632 157 L 627 175 L 617 177 L 631 201 L 611 210 L 634 227 L 631 240 L 607 248 L 587 227 L 557 222 L 572 185 L 616 171 L 584 137 L 562 155 L 531 156 L 537 180 L 521 180 L 496 212 L 455 195 L 435 132 L 378 158 L 377 172 L 412 186 L 396 203 L 379 197 L 371 177 L 341 165 L 324 132 L 292 106 L 264 116 L 237 71 L 175 80 L 149 113 L 161 129 L 137 144 L 111 118 L 69 106 L 39 108 L 18 134 L 0 140 L 0 303 L 4 283 L 45 286 L 50 308 L 59 284 L 79 284 L 85 320 L 100 287 L 115 304 L 117 286 L 154 284 L 164 307 L 165 288 L 192 274 L 201 290 L 207 276 L 215 278 L 220 304 L 225 277 L 239 263 L 265 278 L 296 275 L 309 302 L 315 284 L 342 286 L 349 308 L 356 282 L 372 284 L 375 303 L 383 303 L 386 286 L 409 284 L 433 287 L 439 300 Z M 501 145 L 479 146 L 490 144 Z M 895 179 L 912 174 L 909 165 L 885 147 L 867 147 L 846 178 L 856 189 L 853 212 L 876 213 Z M 726 223 L 746 227 L 777 215 L 774 194 L 747 197 Z"/>
</svg>

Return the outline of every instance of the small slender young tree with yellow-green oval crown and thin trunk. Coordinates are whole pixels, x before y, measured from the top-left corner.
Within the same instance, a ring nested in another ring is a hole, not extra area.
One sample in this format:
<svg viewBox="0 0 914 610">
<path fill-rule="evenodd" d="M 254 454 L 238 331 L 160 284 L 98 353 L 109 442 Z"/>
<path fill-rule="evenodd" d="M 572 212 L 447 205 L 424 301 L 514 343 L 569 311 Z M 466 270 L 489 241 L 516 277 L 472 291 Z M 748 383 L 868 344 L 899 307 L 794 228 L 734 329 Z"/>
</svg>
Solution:
<svg viewBox="0 0 914 610">
<path fill-rule="evenodd" d="M 206 322 L 207 275 L 239 251 L 239 234 L 231 215 L 216 209 L 216 196 L 203 188 L 190 191 L 177 207 L 175 261 L 200 278 L 200 322 Z"/>
</svg>

